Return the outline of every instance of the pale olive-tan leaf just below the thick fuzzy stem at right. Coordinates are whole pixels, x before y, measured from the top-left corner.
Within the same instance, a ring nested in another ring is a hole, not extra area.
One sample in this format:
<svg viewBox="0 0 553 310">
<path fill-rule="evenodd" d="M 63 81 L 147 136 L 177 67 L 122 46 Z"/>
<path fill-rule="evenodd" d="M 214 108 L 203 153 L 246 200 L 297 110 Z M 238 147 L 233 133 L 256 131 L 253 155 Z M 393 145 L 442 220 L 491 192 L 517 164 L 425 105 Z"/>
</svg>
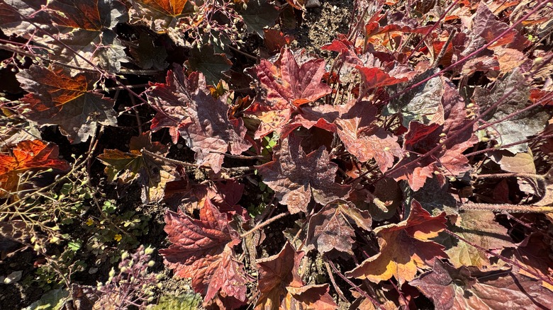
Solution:
<svg viewBox="0 0 553 310">
<path fill-rule="evenodd" d="M 465 211 L 457 216 L 450 230 L 486 250 L 502 250 L 514 246 L 507 229 L 498 224 L 495 217 L 496 215 L 491 211 Z M 462 240 L 453 239 L 448 235 L 446 239 L 439 242 L 446 246 L 445 253 L 456 268 L 463 265 L 477 268 L 490 265 L 486 253 Z"/>
</svg>

